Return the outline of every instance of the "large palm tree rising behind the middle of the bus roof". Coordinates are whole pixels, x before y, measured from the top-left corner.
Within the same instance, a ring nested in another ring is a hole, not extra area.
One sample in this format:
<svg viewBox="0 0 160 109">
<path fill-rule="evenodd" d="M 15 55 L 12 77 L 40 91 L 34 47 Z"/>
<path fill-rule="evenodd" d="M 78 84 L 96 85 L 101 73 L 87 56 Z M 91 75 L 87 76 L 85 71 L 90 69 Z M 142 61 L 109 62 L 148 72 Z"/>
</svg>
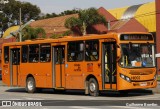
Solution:
<svg viewBox="0 0 160 109">
<path fill-rule="evenodd" d="M 86 35 L 86 30 L 88 27 L 91 27 L 95 24 L 104 24 L 107 25 L 105 18 L 100 15 L 95 8 L 89 8 L 87 10 L 79 11 L 79 17 L 70 17 L 66 19 L 65 27 L 73 30 L 74 28 L 78 28 L 79 31 Z"/>
</svg>

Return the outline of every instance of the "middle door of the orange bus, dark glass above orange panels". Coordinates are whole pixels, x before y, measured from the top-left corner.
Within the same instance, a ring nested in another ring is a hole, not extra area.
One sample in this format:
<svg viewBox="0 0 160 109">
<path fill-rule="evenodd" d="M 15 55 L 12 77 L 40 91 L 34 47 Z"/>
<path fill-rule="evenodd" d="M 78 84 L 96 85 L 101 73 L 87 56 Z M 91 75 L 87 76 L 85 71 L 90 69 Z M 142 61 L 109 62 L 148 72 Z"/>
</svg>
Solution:
<svg viewBox="0 0 160 109">
<path fill-rule="evenodd" d="M 64 54 L 65 46 L 53 47 L 53 87 L 64 88 L 65 87 L 65 72 L 64 72 Z"/>
</svg>

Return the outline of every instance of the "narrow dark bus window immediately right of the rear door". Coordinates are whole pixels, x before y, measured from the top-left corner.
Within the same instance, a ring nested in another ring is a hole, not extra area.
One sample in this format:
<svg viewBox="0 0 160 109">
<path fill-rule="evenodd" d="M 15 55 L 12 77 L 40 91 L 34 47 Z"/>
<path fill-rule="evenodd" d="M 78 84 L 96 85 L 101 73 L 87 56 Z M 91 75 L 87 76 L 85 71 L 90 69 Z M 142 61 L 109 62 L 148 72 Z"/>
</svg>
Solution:
<svg viewBox="0 0 160 109">
<path fill-rule="evenodd" d="M 28 61 L 28 46 L 22 46 L 22 63 L 27 63 Z"/>
</svg>

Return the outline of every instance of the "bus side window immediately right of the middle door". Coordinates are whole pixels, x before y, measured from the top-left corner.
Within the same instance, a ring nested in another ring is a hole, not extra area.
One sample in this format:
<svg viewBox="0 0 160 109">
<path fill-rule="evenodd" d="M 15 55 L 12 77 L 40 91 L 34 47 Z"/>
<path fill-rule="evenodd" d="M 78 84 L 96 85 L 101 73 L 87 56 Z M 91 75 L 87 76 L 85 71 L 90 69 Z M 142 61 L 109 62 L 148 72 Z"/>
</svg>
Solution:
<svg viewBox="0 0 160 109">
<path fill-rule="evenodd" d="M 84 52 L 83 41 L 68 43 L 68 61 L 82 61 Z"/>
</svg>

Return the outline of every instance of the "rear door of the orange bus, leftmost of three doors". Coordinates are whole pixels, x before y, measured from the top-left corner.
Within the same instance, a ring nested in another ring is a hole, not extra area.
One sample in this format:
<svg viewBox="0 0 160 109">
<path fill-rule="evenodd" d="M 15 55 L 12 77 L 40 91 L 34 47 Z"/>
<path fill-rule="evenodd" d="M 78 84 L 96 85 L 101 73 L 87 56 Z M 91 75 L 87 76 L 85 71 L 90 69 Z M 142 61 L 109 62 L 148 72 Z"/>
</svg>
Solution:
<svg viewBox="0 0 160 109">
<path fill-rule="evenodd" d="M 20 73 L 20 48 L 11 48 L 10 52 L 11 86 L 18 86 Z"/>
</svg>

